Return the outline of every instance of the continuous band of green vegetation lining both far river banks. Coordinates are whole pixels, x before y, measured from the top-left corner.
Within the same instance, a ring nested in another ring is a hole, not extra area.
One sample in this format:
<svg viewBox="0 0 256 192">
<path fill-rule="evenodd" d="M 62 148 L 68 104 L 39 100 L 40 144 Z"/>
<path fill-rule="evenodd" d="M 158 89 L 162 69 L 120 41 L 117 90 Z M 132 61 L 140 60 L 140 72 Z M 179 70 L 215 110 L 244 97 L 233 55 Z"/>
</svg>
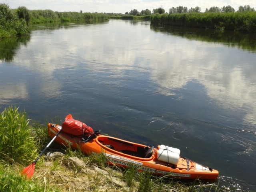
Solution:
<svg viewBox="0 0 256 192">
<path fill-rule="evenodd" d="M 52 10 L 28 10 L 19 7 L 15 10 L 7 4 L 0 4 L 0 38 L 29 35 L 29 24 L 47 22 L 98 22 L 115 19 L 143 19 L 152 24 L 174 25 L 215 30 L 236 30 L 256 33 L 256 12 L 229 13 L 182 13 L 182 14 L 151 14 L 133 16 L 127 14 L 54 12 Z"/>
</svg>

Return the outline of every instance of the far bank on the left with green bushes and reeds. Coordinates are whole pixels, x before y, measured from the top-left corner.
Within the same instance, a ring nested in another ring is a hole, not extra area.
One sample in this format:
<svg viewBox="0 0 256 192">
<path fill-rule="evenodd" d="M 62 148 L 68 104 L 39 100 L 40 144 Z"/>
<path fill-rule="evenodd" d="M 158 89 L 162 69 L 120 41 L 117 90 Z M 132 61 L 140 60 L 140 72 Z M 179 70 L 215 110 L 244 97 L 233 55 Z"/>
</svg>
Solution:
<svg viewBox="0 0 256 192">
<path fill-rule="evenodd" d="M 26 7 L 10 9 L 0 3 L 0 39 L 29 35 L 29 24 L 47 22 L 98 22 L 108 20 L 103 13 L 54 12 L 52 10 L 28 10 Z"/>
</svg>

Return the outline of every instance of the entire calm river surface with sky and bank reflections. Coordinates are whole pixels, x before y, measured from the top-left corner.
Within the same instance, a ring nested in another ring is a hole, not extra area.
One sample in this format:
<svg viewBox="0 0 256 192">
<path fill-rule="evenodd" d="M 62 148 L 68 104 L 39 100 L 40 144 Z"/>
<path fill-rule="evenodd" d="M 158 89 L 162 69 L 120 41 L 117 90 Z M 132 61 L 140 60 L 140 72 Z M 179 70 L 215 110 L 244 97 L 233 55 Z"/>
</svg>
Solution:
<svg viewBox="0 0 256 192">
<path fill-rule="evenodd" d="M 34 28 L 0 42 L 2 110 L 20 106 L 42 123 L 72 114 L 180 148 L 219 170 L 220 186 L 256 190 L 255 36 L 124 20 Z"/>
</svg>

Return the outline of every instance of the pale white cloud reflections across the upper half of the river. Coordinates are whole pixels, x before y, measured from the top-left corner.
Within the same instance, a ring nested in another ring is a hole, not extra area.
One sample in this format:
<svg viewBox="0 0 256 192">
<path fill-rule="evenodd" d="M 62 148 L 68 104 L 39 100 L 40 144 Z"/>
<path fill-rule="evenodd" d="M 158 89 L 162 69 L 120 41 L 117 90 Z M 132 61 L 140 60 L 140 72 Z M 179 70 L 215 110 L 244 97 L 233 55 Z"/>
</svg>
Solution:
<svg viewBox="0 0 256 192">
<path fill-rule="evenodd" d="M 68 30 L 34 31 L 26 48 L 17 52 L 15 63 L 35 72 L 42 79 L 41 92 L 49 97 L 60 96 L 63 82 L 56 76 L 66 70 L 108 71 L 116 82 L 129 80 L 130 72 L 139 71 L 149 74 L 149 80 L 157 84 L 157 93 L 166 96 L 175 95 L 176 90 L 196 81 L 221 106 L 246 108 L 244 120 L 256 124 L 253 52 L 153 32 L 148 29 L 148 22 L 141 27 L 133 25 L 130 21 L 117 24 L 110 20 L 108 24 Z M 52 80 L 43 81 L 45 78 Z M 27 99 L 26 86 L 9 86 L 1 98 Z"/>
</svg>

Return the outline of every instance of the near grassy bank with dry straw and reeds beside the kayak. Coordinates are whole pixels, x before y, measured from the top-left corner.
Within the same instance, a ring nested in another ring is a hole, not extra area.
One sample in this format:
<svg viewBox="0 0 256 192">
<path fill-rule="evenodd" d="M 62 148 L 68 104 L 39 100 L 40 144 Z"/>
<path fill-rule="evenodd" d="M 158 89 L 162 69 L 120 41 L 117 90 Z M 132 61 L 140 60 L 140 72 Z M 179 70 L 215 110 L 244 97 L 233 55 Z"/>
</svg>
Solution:
<svg viewBox="0 0 256 192">
<path fill-rule="evenodd" d="M 38 156 L 50 141 L 46 125 L 31 124 L 25 112 L 16 107 L 6 108 L 0 116 L 0 191 L 127 191 L 127 192 L 198 192 L 227 191 L 216 184 L 203 185 L 199 181 L 181 183 L 158 178 L 134 168 L 109 167 L 104 155 L 84 156 L 80 151 L 61 149 L 52 144 L 50 151 L 61 151 L 64 155 L 54 160 L 42 156 L 36 164 L 31 180 L 21 177 L 19 172 Z M 79 158 L 82 166 L 68 166 L 70 157 Z"/>
</svg>

